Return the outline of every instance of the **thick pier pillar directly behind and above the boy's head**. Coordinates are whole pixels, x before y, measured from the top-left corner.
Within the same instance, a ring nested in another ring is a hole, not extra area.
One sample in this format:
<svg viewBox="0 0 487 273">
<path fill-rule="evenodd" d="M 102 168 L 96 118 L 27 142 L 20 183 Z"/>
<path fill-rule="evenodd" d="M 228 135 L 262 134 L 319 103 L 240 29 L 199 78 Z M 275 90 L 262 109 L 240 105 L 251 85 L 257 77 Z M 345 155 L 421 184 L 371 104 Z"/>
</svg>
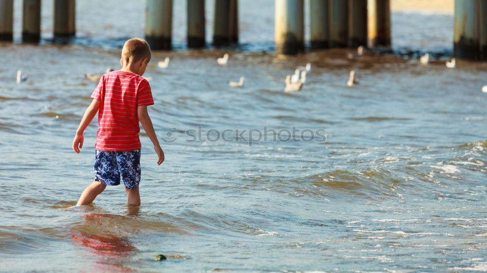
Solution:
<svg viewBox="0 0 487 273">
<path fill-rule="evenodd" d="M 147 0 L 145 34 L 151 49 L 172 48 L 172 0 Z"/>
</svg>

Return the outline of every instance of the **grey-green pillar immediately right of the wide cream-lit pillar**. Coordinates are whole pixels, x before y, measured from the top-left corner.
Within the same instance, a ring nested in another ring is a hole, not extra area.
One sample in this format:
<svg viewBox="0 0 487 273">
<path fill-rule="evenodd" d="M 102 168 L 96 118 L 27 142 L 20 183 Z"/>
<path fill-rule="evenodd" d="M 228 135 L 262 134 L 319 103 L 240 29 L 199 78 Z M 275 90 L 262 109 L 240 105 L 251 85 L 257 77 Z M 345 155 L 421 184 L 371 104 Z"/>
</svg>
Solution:
<svg viewBox="0 0 487 273">
<path fill-rule="evenodd" d="M 330 0 L 309 0 L 311 49 L 330 47 Z"/>
</svg>

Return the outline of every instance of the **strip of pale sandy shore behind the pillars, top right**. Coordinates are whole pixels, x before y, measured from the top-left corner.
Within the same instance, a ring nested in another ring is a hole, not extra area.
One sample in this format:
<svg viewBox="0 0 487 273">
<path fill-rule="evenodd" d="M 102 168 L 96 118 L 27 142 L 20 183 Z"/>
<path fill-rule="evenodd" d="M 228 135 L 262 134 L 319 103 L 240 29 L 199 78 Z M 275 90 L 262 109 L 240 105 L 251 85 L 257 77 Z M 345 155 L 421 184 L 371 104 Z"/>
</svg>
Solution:
<svg viewBox="0 0 487 273">
<path fill-rule="evenodd" d="M 454 2 L 454 0 L 391 0 L 391 10 L 453 14 Z"/>
</svg>

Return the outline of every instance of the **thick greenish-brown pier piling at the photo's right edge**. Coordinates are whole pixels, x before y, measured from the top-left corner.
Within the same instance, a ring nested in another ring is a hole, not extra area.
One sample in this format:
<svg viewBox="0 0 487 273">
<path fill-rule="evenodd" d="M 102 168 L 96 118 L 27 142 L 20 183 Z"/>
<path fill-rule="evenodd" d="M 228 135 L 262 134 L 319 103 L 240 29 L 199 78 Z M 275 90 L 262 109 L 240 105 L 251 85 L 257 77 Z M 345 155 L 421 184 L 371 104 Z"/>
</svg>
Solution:
<svg viewBox="0 0 487 273">
<path fill-rule="evenodd" d="M 455 0 L 453 55 L 487 61 L 487 0 Z"/>
</svg>

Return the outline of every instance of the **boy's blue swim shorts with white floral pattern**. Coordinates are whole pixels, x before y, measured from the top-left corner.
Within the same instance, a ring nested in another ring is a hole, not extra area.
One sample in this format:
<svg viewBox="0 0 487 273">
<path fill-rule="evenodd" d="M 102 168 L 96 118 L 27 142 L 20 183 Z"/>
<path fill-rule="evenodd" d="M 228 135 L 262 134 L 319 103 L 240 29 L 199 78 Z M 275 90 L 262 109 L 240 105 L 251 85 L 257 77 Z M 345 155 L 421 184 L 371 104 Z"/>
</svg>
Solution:
<svg viewBox="0 0 487 273">
<path fill-rule="evenodd" d="M 96 150 L 94 181 L 107 186 L 116 186 L 120 185 L 120 175 L 125 188 L 139 187 L 140 150 L 127 152 Z"/>
</svg>

